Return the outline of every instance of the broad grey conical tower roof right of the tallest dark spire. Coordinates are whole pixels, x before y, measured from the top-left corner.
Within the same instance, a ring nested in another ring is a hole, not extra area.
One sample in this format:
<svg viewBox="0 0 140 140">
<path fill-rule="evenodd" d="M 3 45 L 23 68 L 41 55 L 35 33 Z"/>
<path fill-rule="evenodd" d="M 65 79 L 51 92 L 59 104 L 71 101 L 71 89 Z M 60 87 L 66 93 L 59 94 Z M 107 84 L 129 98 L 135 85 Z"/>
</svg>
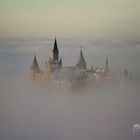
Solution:
<svg viewBox="0 0 140 140">
<path fill-rule="evenodd" d="M 87 64 L 86 64 L 85 58 L 83 56 L 82 47 L 81 47 L 81 51 L 80 51 L 79 57 L 76 62 L 76 67 L 78 69 L 87 69 Z"/>
</svg>

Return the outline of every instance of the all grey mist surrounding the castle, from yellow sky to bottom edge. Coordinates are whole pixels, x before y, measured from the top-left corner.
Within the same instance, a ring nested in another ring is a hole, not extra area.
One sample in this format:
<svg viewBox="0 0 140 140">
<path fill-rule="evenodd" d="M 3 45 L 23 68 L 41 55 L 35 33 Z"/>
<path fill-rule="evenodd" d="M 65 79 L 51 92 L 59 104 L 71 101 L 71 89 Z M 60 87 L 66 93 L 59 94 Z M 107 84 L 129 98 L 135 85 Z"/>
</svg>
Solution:
<svg viewBox="0 0 140 140">
<path fill-rule="evenodd" d="M 101 88 L 47 88 L 45 85 L 32 84 L 28 70 L 34 51 L 38 52 L 39 65 L 43 68 L 53 45 L 50 39 L 41 45 L 39 42 L 43 41 L 1 40 L 1 140 L 139 140 L 140 132 L 133 132 L 133 125 L 140 124 L 140 88 L 135 77 L 131 83 Z M 65 58 L 64 65 L 74 64 L 79 54 L 79 42 L 60 41 L 58 44 L 63 46 L 62 50 L 61 47 L 59 49 L 62 58 Z M 101 46 L 95 42 L 91 44 Z M 46 47 L 46 43 L 50 48 Z M 68 48 L 64 47 L 66 45 Z M 107 45 L 104 48 L 92 45 L 87 44 L 88 47 L 83 49 L 87 63 L 95 66 L 104 64 L 103 54 L 110 48 Z M 128 70 L 139 75 L 139 65 L 133 63 L 139 56 L 139 47 L 133 44 L 135 49 L 131 52 L 130 46 L 125 49 L 121 43 L 119 47 L 111 48 L 109 58 L 115 57 L 109 59 L 111 70 L 119 73 L 123 69 L 123 62 L 126 62 L 124 64 L 129 67 Z M 95 56 L 91 55 L 92 52 Z M 131 56 L 131 61 L 118 61 L 123 55 L 126 58 Z"/>
</svg>

